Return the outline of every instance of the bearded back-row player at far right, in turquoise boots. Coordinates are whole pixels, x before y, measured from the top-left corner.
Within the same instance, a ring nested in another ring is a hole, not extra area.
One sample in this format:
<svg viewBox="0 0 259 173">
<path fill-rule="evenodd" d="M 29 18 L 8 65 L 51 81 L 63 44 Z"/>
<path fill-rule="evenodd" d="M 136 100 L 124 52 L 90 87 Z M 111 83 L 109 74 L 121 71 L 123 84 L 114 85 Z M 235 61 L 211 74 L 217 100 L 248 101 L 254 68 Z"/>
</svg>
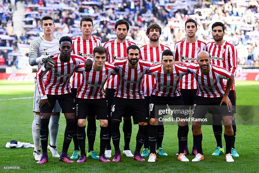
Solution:
<svg viewBox="0 0 259 173">
<path fill-rule="evenodd" d="M 207 51 L 210 54 L 211 64 L 226 68 L 230 71 L 234 77 L 237 71 L 237 51 L 233 44 L 228 43 L 223 39 L 225 35 L 225 26 L 221 22 L 215 22 L 212 25 L 212 37 L 214 41 L 207 44 Z M 226 80 L 224 81 L 224 85 L 226 85 Z M 235 93 L 235 81 L 229 91 L 228 95 L 229 99 L 231 100 L 232 105 L 236 105 L 236 93 Z M 235 106 L 232 110 L 233 113 L 233 121 L 232 127 L 234 131 L 234 140 L 232 144 L 232 156 L 238 157 L 238 153 L 235 150 L 235 137 L 236 137 L 236 125 L 235 125 L 235 117 L 234 114 L 236 113 Z M 216 116 L 213 116 L 214 124 L 212 125 L 214 136 L 217 141 L 217 147 L 215 148 L 213 156 L 219 156 L 220 154 L 224 153 L 224 148 L 222 146 L 222 125 L 221 118 L 217 119 Z"/>
</svg>

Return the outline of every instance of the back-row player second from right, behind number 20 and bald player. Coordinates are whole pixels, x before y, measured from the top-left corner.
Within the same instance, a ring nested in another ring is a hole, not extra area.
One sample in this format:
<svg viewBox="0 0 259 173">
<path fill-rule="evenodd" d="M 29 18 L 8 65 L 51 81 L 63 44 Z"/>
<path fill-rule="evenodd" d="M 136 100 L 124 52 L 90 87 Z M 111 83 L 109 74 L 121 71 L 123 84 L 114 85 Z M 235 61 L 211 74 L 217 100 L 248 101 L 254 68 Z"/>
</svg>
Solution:
<svg viewBox="0 0 259 173">
<path fill-rule="evenodd" d="M 202 50 L 206 50 L 206 43 L 195 38 L 197 30 L 197 22 L 195 20 L 186 20 L 186 39 L 185 41 L 178 41 L 175 43 L 175 61 L 182 61 L 184 63 L 196 62 L 197 54 Z M 184 105 L 193 105 L 194 99 L 196 98 L 197 94 L 197 83 L 195 78 L 191 74 L 185 75 L 180 81 L 179 88 L 181 89 Z M 188 133 L 188 124 L 186 125 L 186 130 Z M 184 153 L 189 154 L 187 140 L 184 148 Z M 192 154 L 197 154 L 197 150 L 194 145 L 192 147 Z"/>
</svg>

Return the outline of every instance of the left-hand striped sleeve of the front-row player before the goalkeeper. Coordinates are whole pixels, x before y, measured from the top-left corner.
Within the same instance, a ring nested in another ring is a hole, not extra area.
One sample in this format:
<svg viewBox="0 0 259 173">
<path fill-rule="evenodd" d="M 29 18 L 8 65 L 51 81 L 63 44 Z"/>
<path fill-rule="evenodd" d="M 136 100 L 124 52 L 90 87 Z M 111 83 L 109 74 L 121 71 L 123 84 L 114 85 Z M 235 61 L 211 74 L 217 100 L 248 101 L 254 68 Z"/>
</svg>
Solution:
<svg viewBox="0 0 259 173">
<path fill-rule="evenodd" d="M 45 86 L 43 81 L 43 76 L 49 71 L 48 67 L 45 67 L 42 65 L 39 70 L 36 73 L 36 81 L 37 81 L 37 87 L 41 96 L 41 99 L 47 99 L 46 93 L 45 93 Z"/>
</svg>

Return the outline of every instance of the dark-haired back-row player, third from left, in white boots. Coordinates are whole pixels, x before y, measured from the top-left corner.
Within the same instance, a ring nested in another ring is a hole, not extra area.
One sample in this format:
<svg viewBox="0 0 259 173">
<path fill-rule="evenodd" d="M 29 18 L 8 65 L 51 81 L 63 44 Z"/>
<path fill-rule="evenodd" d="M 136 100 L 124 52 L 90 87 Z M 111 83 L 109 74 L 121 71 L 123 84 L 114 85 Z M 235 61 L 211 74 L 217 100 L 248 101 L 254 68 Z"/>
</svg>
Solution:
<svg viewBox="0 0 259 173">
<path fill-rule="evenodd" d="M 126 36 L 130 29 L 130 26 L 126 20 L 118 20 L 115 23 L 115 32 L 117 39 L 107 41 L 104 43 L 104 47 L 107 49 L 107 61 L 108 63 L 113 63 L 116 59 L 126 58 L 127 57 L 127 47 L 130 45 L 136 45 L 135 43 L 126 40 Z M 119 83 L 119 79 L 116 76 L 110 76 L 107 80 L 107 85 L 105 89 L 105 98 L 108 104 L 108 112 L 111 112 L 112 102 L 114 98 L 115 89 L 117 84 Z M 132 133 L 132 123 L 131 123 L 131 114 L 132 111 L 128 109 L 127 113 L 123 115 L 123 133 L 124 133 L 124 150 L 123 154 L 127 157 L 133 157 L 133 154 L 130 151 L 130 140 Z M 111 124 L 111 120 L 109 120 L 109 124 Z M 109 130 L 111 130 L 111 126 L 109 125 Z M 109 132 L 111 135 L 111 131 Z M 109 136 L 109 141 L 107 142 L 105 155 L 110 158 L 111 157 L 111 136 Z"/>
</svg>

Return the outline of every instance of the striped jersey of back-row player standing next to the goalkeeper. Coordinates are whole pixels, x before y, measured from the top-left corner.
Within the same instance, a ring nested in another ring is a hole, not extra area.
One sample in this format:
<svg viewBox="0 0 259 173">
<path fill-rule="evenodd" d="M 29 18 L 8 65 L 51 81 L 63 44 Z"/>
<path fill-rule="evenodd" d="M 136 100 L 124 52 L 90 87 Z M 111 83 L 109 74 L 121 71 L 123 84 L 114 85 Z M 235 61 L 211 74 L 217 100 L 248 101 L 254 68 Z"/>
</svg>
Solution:
<svg viewBox="0 0 259 173">
<path fill-rule="evenodd" d="M 72 39 L 72 53 L 87 59 L 93 57 L 93 49 L 101 46 L 101 39 L 91 36 L 90 40 L 84 40 L 82 36 Z M 73 74 L 71 88 L 78 88 L 82 82 L 81 73 Z"/>
</svg>

